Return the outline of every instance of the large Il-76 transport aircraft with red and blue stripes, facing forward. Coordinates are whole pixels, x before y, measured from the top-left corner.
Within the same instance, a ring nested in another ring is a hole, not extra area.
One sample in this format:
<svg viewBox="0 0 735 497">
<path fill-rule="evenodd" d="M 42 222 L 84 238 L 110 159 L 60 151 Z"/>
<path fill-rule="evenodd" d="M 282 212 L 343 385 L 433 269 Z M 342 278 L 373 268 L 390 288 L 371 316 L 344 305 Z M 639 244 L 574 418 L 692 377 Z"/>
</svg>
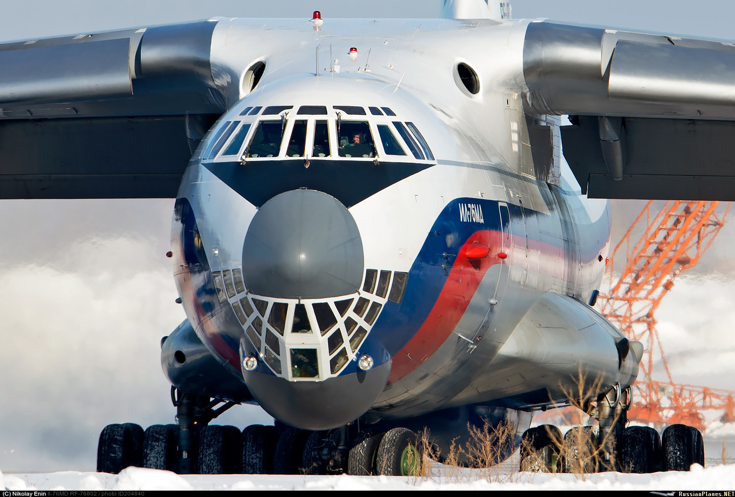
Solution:
<svg viewBox="0 0 735 497">
<path fill-rule="evenodd" d="M 417 433 L 441 459 L 486 423 L 526 470 L 703 464 L 691 427 L 626 426 L 600 198 L 735 199 L 735 45 L 442 12 L 0 45 L 2 198 L 176 198 L 178 423 L 105 427 L 98 471 L 406 475 Z M 244 403 L 276 426 L 210 423 Z M 567 404 L 597 431 L 528 428 Z"/>
</svg>

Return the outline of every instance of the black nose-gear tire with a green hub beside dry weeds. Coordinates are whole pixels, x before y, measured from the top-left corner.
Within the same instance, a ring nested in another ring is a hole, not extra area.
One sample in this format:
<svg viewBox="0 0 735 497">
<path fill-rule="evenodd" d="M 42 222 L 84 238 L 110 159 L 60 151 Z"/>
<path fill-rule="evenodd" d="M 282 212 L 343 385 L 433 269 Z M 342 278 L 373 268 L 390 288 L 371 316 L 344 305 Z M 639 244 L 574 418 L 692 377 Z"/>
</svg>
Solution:
<svg viewBox="0 0 735 497">
<path fill-rule="evenodd" d="M 416 434 L 407 428 L 390 429 L 378 446 L 377 473 L 385 476 L 419 476 L 421 460 Z"/>
</svg>

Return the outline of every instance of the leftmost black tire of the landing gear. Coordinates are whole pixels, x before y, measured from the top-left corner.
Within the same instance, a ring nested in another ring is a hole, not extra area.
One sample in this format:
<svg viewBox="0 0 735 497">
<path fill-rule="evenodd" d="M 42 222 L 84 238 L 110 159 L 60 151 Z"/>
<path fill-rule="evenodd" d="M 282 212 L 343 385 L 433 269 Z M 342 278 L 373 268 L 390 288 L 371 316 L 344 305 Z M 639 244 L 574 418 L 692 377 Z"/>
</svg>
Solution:
<svg viewBox="0 0 735 497">
<path fill-rule="evenodd" d="M 108 424 L 99 435 L 97 471 L 120 473 L 143 466 L 143 428 L 135 423 Z"/>
</svg>

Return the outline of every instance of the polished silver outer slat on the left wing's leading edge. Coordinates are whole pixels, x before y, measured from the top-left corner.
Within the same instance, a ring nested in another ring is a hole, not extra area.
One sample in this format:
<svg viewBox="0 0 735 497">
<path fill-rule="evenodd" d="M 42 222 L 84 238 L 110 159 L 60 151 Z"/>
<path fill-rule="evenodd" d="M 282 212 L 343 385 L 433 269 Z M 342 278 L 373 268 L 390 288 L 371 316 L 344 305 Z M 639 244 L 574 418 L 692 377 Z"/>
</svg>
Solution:
<svg viewBox="0 0 735 497">
<path fill-rule="evenodd" d="M 0 102 L 129 98 L 129 40 L 0 51 Z"/>
</svg>

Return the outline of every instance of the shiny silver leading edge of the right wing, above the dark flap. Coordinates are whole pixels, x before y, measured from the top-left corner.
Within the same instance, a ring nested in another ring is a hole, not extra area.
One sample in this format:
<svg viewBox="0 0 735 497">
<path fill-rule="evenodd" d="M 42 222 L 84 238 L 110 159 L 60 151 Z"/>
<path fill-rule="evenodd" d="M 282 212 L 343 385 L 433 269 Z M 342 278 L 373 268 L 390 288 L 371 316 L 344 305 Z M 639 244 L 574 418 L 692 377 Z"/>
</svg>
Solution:
<svg viewBox="0 0 735 497">
<path fill-rule="evenodd" d="M 526 99 L 539 114 L 735 119 L 735 46 L 528 24 Z"/>
</svg>

